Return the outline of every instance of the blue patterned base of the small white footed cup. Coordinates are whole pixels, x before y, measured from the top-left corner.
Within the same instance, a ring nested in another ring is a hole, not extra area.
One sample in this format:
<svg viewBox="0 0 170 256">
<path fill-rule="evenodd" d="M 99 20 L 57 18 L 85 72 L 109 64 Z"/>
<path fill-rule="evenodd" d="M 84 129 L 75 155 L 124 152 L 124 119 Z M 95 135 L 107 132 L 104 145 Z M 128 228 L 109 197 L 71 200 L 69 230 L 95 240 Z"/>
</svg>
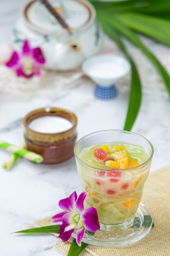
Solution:
<svg viewBox="0 0 170 256">
<path fill-rule="evenodd" d="M 117 90 L 115 85 L 111 85 L 109 87 L 103 87 L 101 85 L 97 85 L 95 89 L 95 97 L 97 99 L 114 99 L 117 96 Z"/>
</svg>

